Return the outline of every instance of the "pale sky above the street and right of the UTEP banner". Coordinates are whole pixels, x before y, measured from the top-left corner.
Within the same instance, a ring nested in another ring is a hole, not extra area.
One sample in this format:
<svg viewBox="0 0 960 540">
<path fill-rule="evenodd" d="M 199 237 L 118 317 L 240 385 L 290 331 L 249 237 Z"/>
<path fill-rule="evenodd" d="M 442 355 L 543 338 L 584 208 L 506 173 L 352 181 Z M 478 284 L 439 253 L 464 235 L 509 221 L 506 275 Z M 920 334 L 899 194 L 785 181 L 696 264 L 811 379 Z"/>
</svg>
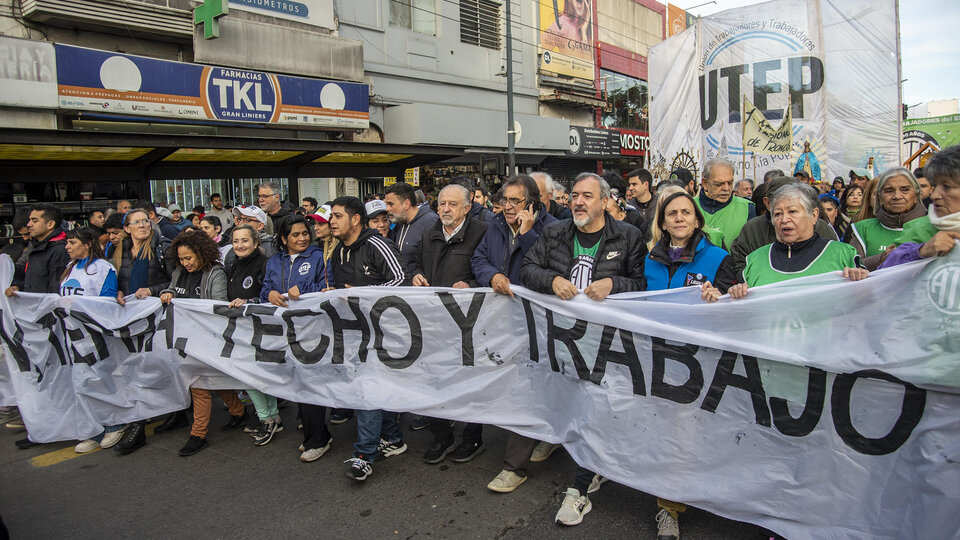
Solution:
<svg viewBox="0 0 960 540">
<path fill-rule="evenodd" d="M 700 3 L 688 0 L 676 5 L 686 8 Z M 716 0 L 690 11 L 704 16 L 757 3 Z M 900 57 L 902 78 L 907 79 L 903 83 L 906 104 L 960 97 L 960 1 L 901 0 Z"/>
</svg>

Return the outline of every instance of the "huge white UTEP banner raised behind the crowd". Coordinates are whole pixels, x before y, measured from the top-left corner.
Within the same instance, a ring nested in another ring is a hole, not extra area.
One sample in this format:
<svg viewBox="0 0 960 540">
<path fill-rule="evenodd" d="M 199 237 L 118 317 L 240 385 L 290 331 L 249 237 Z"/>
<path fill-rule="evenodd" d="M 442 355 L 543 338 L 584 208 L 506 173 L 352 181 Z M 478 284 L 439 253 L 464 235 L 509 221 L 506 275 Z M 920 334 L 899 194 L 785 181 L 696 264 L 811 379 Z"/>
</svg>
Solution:
<svg viewBox="0 0 960 540">
<path fill-rule="evenodd" d="M 897 166 L 898 53 L 894 0 L 774 0 L 703 17 L 650 50 L 652 166 L 702 174 L 719 155 L 737 178 L 744 160 L 748 178 L 792 174 L 804 143 L 825 181 L 870 158 Z M 744 149 L 744 97 L 773 125 L 790 108 L 791 154 Z"/>
</svg>

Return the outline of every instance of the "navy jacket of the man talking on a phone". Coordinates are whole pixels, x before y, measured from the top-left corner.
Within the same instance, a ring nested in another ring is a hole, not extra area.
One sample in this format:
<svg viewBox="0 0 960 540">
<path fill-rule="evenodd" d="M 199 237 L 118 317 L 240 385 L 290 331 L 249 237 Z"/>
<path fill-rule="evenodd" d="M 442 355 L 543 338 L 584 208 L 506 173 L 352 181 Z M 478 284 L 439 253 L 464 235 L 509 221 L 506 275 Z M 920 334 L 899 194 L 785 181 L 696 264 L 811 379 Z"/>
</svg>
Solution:
<svg viewBox="0 0 960 540">
<path fill-rule="evenodd" d="M 490 280 L 495 274 L 507 276 L 510 283 L 520 283 L 520 268 L 523 267 L 523 258 L 527 251 L 537 243 L 543 228 L 557 221 L 557 218 L 551 216 L 543 206 L 540 206 L 540 213 L 537 220 L 533 223 L 533 228 L 526 234 L 518 236 L 518 242 L 510 245 L 510 226 L 507 225 L 507 219 L 503 214 L 497 214 L 493 221 L 487 227 L 487 233 L 480 241 L 473 257 L 470 258 L 470 266 L 473 267 L 473 277 L 481 287 L 489 287 Z"/>
</svg>

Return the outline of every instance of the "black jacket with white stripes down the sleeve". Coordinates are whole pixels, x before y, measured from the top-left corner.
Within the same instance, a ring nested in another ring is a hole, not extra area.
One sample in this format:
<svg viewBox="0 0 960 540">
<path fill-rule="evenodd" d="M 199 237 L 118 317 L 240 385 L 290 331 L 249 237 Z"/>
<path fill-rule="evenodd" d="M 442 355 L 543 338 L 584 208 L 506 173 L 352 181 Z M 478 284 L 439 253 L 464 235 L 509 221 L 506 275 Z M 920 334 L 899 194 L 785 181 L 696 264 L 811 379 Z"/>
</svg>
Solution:
<svg viewBox="0 0 960 540">
<path fill-rule="evenodd" d="M 333 282 L 338 289 L 345 285 L 406 285 L 411 279 L 400 263 L 397 246 L 375 229 L 363 229 L 349 246 L 340 242 L 330 263 L 333 264 Z"/>
</svg>

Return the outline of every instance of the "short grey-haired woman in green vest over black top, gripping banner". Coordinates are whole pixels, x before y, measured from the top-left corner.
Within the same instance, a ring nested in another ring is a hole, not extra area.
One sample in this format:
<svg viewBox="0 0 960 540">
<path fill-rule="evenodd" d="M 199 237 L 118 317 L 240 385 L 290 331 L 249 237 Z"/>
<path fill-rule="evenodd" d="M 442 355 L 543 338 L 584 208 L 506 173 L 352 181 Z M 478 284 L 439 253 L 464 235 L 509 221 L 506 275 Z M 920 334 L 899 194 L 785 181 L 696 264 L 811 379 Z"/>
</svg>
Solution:
<svg viewBox="0 0 960 540">
<path fill-rule="evenodd" d="M 774 193 L 770 213 L 777 240 L 747 255 L 741 283 L 728 291 L 731 298 L 743 298 L 749 287 L 829 272 L 843 272 L 851 281 L 867 277 L 853 246 L 823 239 L 814 231 L 820 215 L 816 200 L 816 190 L 803 184 L 788 184 Z"/>
</svg>

